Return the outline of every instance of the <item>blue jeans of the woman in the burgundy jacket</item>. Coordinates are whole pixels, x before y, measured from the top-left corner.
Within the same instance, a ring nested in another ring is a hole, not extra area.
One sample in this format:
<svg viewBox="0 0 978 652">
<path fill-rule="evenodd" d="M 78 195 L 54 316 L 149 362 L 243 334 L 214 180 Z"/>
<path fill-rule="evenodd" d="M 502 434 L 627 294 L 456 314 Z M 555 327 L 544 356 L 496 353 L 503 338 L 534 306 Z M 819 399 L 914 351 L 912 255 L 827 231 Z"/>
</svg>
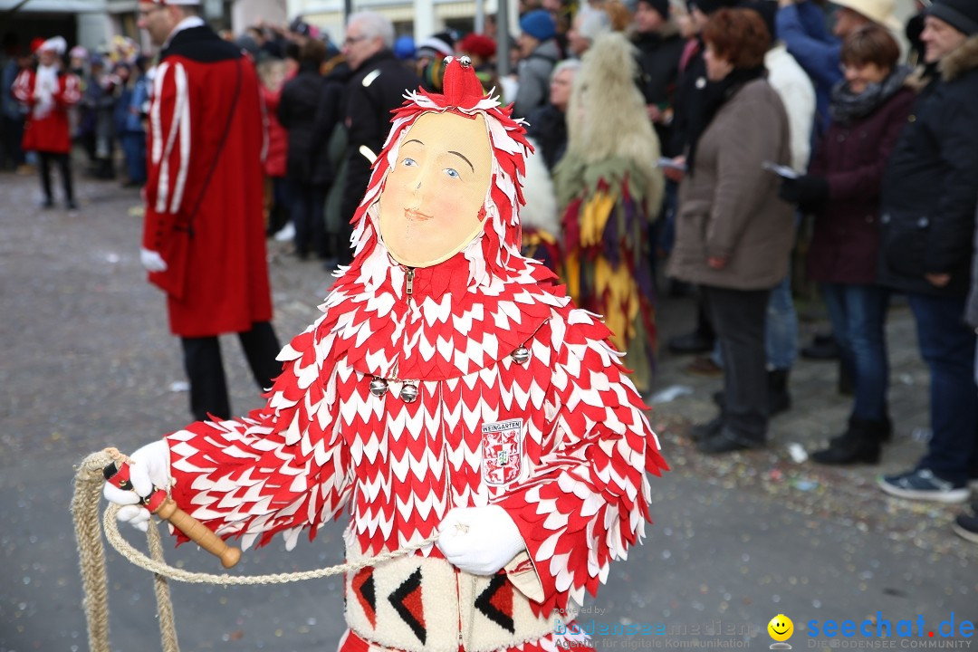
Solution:
<svg viewBox="0 0 978 652">
<path fill-rule="evenodd" d="M 885 326 L 890 291 L 878 285 L 822 283 L 822 297 L 842 363 L 853 371 L 856 400 L 852 415 L 882 421 L 890 384 Z"/>
</svg>

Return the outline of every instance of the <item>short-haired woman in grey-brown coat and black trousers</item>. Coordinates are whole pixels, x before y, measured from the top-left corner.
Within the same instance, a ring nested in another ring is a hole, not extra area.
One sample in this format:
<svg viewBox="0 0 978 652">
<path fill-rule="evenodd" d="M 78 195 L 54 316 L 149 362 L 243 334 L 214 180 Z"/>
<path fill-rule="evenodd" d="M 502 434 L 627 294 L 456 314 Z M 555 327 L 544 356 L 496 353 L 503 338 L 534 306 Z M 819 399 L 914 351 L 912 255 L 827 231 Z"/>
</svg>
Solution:
<svg viewBox="0 0 978 652">
<path fill-rule="evenodd" d="M 790 164 L 787 115 L 765 80 L 767 27 L 756 12 L 723 9 L 703 40 L 703 126 L 689 146 L 669 274 L 700 285 L 720 342 L 725 410 L 693 429 L 697 448 L 716 454 L 767 439 L 765 317 L 787 273 L 794 219 L 763 166 Z"/>
</svg>

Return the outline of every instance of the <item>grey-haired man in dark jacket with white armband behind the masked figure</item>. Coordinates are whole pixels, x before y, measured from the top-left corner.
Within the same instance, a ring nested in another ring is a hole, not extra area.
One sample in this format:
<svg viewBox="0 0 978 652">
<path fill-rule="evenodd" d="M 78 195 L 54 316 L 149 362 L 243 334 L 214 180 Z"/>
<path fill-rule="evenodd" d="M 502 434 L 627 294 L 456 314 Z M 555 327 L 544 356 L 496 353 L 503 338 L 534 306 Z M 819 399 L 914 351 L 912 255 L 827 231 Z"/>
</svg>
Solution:
<svg viewBox="0 0 978 652">
<path fill-rule="evenodd" d="M 348 134 L 347 178 L 341 209 L 339 263 L 353 260 L 349 247 L 353 233 L 350 220 L 367 191 L 372 159 L 390 131 L 390 111 L 401 106 L 406 91 L 417 90 L 421 80 L 394 56 L 394 26 L 374 12 L 350 16 L 346 24 L 343 54 L 353 70 L 343 101 L 343 120 Z M 364 151 L 366 149 L 366 151 Z M 369 151 L 369 152 L 367 152 Z"/>
</svg>

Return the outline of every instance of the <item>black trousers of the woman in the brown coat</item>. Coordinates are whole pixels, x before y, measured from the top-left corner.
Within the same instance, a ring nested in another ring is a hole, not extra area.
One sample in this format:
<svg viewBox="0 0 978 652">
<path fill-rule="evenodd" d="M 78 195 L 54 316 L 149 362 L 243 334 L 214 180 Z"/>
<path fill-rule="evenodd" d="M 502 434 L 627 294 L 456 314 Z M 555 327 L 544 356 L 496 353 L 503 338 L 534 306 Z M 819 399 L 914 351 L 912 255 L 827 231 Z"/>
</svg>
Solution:
<svg viewBox="0 0 978 652">
<path fill-rule="evenodd" d="M 724 425 L 746 440 L 768 435 L 768 354 L 764 346 L 769 289 L 702 285 L 704 306 L 724 360 Z"/>
</svg>

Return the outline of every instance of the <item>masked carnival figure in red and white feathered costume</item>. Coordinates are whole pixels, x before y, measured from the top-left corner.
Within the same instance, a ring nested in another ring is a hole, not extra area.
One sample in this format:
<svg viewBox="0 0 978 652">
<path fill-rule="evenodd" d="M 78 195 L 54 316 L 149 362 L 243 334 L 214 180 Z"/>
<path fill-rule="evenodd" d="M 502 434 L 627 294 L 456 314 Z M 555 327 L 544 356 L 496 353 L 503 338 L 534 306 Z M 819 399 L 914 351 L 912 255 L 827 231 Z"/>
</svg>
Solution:
<svg viewBox="0 0 978 652">
<path fill-rule="evenodd" d="M 353 264 L 267 406 L 140 449 L 132 479 L 244 547 L 344 510 L 349 560 L 440 533 L 347 575 L 343 651 L 556 650 L 666 464 L 608 329 L 519 253 L 521 123 L 465 59 L 444 88 L 395 112 Z"/>
</svg>

